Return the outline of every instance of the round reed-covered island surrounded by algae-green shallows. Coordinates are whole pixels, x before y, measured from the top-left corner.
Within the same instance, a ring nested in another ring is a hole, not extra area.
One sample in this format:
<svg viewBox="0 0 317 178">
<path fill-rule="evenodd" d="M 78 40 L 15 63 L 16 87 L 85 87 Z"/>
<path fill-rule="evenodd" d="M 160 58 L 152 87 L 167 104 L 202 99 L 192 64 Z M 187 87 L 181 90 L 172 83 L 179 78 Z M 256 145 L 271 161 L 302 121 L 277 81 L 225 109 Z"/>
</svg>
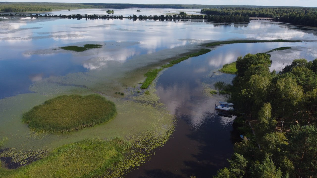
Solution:
<svg viewBox="0 0 317 178">
<path fill-rule="evenodd" d="M 74 94 L 49 99 L 24 113 L 22 120 L 31 129 L 67 132 L 107 122 L 116 113 L 114 103 L 98 94 Z"/>
</svg>

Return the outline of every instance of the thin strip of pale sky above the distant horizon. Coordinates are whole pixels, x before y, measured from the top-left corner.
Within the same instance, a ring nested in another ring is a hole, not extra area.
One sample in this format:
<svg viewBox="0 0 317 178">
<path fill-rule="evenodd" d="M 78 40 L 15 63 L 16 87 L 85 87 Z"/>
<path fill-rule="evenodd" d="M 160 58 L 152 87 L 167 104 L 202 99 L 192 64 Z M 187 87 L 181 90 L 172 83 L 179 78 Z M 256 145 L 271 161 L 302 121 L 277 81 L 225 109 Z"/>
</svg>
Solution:
<svg viewBox="0 0 317 178">
<path fill-rule="evenodd" d="M 140 4 L 211 4 L 317 7 L 317 0 L 0 0 L 10 2 L 52 3 L 140 3 Z"/>
</svg>

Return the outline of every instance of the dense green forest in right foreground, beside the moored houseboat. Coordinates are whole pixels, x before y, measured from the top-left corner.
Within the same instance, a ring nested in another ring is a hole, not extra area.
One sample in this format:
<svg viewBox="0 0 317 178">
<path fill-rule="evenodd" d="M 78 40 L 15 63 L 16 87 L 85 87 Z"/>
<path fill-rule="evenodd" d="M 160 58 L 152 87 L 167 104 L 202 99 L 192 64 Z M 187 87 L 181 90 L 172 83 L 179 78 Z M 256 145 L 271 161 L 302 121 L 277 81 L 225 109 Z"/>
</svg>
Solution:
<svg viewBox="0 0 317 178">
<path fill-rule="evenodd" d="M 269 54 L 236 60 L 229 101 L 244 113 L 235 124 L 251 118 L 255 134 L 238 127 L 246 137 L 214 178 L 317 177 L 317 59 L 294 60 L 280 73 L 270 65 Z"/>
</svg>

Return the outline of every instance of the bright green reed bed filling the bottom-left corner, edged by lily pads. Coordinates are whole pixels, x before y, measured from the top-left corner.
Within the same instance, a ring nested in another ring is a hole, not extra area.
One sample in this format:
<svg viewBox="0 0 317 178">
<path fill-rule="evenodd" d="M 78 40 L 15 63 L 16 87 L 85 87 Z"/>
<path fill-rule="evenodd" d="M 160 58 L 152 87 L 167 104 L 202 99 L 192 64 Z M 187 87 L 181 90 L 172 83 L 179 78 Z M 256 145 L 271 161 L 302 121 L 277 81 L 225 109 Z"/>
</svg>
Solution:
<svg viewBox="0 0 317 178">
<path fill-rule="evenodd" d="M 0 172 L 2 177 L 101 177 L 124 159 L 130 143 L 122 138 L 82 140 L 52 151 L 47 157 L 15 170 Z"/>
</svg>

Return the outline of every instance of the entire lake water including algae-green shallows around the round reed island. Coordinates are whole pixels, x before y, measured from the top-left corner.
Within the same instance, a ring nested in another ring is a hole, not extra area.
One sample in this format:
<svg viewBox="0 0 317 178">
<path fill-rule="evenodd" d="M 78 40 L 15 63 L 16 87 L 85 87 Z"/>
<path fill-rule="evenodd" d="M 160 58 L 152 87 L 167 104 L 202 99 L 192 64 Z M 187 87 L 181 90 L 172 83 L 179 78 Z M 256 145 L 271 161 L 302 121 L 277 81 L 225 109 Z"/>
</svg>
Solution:
<svg viewBox="0 0 317 178">
<path fill-rule="evenodd" d="M 114 10 L 113 15 L 132 16 L 136 10 Z M 142 15 L 179 11 L 140 10 L 138 13 L 146 13 Z M 101 15 L 104 11 L 88 9 L 50 14 Z M 187 14 L 199 11 L 186 9 Z M 153 124 L 168 127 L 173 116 L 175 131 L 170 139 L 126 177 L 211 177 L 227 165 L 233 145 L 239 141 L 232 127 L 234 117 L 218 116 L 214 111 L 214 105 L 227 98 L 210 95 L 210 89 L 214 89 L 215 82 L 230 83 L 234 77 L 218 69 L 238 56 L 279 47 L 291 48 L 270 53 L 271 71 L 280 71 L 294 59 L 314 60 L 316 35 L 316 28 L 266 20 L 223 24 L 203 20 L 0 18 L 0 138 L 8 137 L 1 149 L 49 152 L 82 139 L 116 136 L 128 139 Z M 157 96 L 162 111 L 156 113 L 157 107 L 134 102 L 133 97 L 141 96 L 134 88 L 138 89 L 144 81 L 144 73 L 186 53 L 207 48 L 208 42 L 275 39 L 304 42 L 239 43 L 210 48 L 212 51 L 207 54 L 189 58 L 159 73 L 150 96 Z M 83 52 L 61 49 L 84 44 L 103 47 Z M 114 94 L 117 91 L 124 92 L 124 97 Z M 73 93 L 99 93 L 113 100 L 118 105 L 117 118 L 68 134 L 36 133 L 21 122 L 21 115 L 35 105 Z M 161 124 L 156 118 L 165 120 Z"/>
</svg>

